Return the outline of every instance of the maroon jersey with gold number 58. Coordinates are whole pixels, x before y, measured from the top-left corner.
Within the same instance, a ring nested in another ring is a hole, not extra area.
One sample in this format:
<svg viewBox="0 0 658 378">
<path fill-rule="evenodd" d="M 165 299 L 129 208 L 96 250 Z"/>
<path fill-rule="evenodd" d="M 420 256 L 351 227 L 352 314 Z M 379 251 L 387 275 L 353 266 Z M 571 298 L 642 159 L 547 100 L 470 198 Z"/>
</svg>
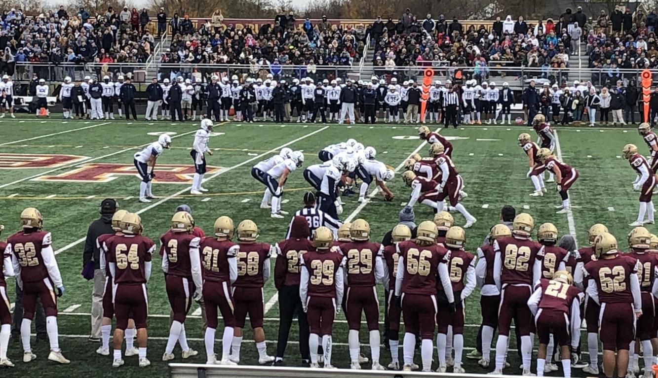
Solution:
<svg viewBox="0 0 658 378">
<path fill-rule="evenodd" d="M 270 258 L 270 248 L 267 243 L 238 243 L 238 279 L 233 283 L 240 287 L 257 287 L 265 285 L 263 266 Z M 268 272 L 269 273 L 269 272 Z"/>
</svg>

